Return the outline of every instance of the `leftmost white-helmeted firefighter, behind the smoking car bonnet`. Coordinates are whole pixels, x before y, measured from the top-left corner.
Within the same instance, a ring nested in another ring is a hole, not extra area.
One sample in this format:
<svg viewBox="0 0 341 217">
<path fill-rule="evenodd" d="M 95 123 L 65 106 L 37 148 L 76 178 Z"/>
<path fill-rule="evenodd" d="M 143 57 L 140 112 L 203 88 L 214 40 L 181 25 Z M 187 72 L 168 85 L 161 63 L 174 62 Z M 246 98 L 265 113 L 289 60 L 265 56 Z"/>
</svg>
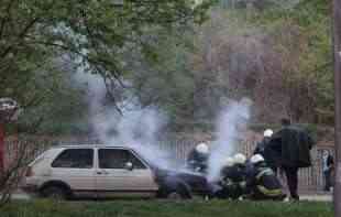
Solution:
<svg viewBox="0 0 341 217">
<path fill-rule="evenodd" d="M 195 172 L 206 173 L 209 156 L 209 148 L 206 143 L 199 143 L 187 158 L 187 165 Z"/>
</svg>

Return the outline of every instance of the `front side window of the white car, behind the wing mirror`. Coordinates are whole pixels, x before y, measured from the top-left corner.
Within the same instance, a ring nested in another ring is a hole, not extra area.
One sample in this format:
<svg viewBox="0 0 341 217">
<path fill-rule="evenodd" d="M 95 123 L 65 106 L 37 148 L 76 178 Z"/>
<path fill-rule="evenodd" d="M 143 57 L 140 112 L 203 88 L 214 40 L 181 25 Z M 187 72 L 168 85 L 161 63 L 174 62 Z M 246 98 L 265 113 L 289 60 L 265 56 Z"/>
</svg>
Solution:
<svg viewBox="0 0 341 217">
<path fill-rule="evenodd" d="M 133 164 L 133 169 L 146 169 L 146 166 L 130 151 L 120 149 L 99 149 L 100 169 L 124 169 L 127 162 Z"/>
</svg>

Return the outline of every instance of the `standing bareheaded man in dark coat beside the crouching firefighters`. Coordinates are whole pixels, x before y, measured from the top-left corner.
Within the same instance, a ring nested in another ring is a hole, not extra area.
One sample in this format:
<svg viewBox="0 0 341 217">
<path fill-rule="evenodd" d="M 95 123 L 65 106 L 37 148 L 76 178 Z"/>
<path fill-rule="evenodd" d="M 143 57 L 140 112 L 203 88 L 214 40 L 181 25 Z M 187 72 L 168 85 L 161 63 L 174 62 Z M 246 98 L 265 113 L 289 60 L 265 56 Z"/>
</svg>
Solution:
<svg viewBox="0 0 341 217">
<path fill-rule="evenodd" d="M 290 120 L 282 119 L 283 128 L 273 135 L 271 148 L 280 153 L 279 164 L 287 177 L 290 196 L 299 200 L 297 193 L 298 170 L 311 166 L 311 137 L 302 129 L 292 126 Z"/>
</svg>

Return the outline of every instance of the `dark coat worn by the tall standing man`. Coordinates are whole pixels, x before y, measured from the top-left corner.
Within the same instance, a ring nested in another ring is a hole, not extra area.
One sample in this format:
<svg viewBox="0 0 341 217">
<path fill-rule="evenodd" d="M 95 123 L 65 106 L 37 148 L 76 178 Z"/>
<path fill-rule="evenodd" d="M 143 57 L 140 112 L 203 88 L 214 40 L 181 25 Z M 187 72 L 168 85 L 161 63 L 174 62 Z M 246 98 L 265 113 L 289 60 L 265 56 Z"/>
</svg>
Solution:
<svg viewBox="0 0 341 217">
<path fill-rule="evenodd" d="M 283 167 L 308 167 L 311 165 L 310 150 L 314 145 L 311 137 L 302 129 L 288 126 L 275 133 L 270 148 L 280 153 Z"/>
</svg>

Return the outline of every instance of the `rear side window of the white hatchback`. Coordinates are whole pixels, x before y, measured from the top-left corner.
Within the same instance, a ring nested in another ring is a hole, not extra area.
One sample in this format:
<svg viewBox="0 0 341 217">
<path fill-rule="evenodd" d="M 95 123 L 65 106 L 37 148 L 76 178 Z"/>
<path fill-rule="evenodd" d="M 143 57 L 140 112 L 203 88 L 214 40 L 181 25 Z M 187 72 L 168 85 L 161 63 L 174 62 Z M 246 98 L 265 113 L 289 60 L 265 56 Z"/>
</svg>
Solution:
<svg viewBox="0 0 341 217">
<path fill-rule="evenodd" d="M 94 167 L 92 149 L 64 150 L 52 163 L 52 167 L 91 169 Z"/>
</svg>

